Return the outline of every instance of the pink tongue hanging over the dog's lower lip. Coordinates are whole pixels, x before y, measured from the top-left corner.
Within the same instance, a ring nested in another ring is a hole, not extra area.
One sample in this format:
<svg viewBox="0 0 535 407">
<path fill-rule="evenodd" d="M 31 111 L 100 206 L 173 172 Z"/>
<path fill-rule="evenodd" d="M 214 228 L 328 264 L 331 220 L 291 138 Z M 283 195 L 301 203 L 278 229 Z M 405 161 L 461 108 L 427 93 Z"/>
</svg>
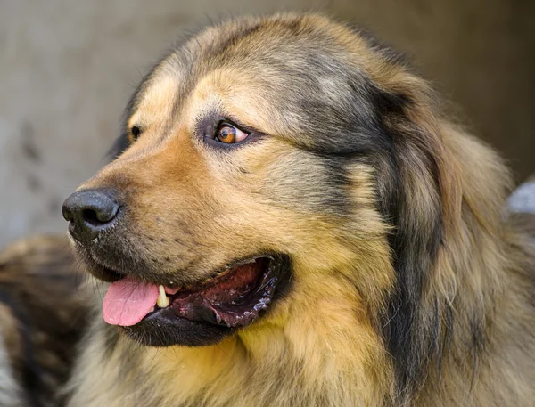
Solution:
<svg viewBox="0 0 535 407">
<path fill-rule="evenodd" d="M 103 302 L 104 321 L 111 325 L 136 325 L 150 313 L 158 299 L 158 286 L 130 277 L 111 284 Z"/>
</svg>

